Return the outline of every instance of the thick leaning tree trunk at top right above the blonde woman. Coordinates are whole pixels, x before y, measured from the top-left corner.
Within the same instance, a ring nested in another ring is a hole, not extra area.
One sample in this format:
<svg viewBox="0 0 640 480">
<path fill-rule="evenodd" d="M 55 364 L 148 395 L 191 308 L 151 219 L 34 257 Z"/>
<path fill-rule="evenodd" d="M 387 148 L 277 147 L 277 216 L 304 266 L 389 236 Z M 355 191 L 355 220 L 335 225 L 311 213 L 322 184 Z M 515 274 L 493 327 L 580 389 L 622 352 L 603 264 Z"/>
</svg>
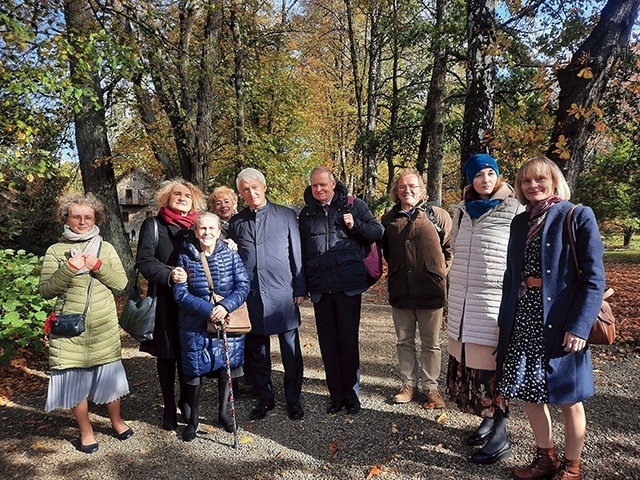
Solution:
<svg viewBox="0 0 640 480">
<path fill-rule="evenodd" d="M 557 72 L 560 95 L 547 156 L 572 188 L 585 162 L 588 140 L 600 121 L 598 103 L 638 16 L 640 0 L 609 0 L 587 39 Z"/>
</svg>

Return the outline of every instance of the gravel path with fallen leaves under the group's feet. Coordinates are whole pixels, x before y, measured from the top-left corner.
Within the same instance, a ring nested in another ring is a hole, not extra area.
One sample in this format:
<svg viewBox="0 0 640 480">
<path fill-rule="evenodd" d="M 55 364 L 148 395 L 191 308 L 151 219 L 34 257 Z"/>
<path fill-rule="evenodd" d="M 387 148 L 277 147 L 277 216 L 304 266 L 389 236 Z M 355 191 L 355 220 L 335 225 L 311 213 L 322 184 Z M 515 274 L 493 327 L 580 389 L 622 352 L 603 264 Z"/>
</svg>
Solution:
<svg viewBox="0 0 640 480">
<path fill-rule="evenodd" d="M 302 308 L 301 342 L 305 361 L 305 417 L 286 415 L 282 365 L 272 341 L 278 406 L 266 419 L 252 422 L 254 400 L 237 401 L 241 445 L 218 427 L 217 391 L 209 381 L 201 398 L 196 440 L 182 441 L 159 428 L 162 416 L 155 361 L 123 337 L 124 364 L 131 394 L 122 403 L 123 418 L 135 435 L 113 436 L 106 410 L 92 406 L 100 450 L 76 450 L 78 431 L 70 412 L 45 414 L 46 373 L 34 368 L 36 393 L 0 407 L 0 472 L 3 479 L 505 479 L 516 465 L 528 463 L 533 437 L 520 404 L 509 419 L 514 456 L 492 466 L 468 460 L 473 448 L 464 438 L 479 424 L 448 404 L 444 411 L 421 407 L 423 397 L 406 405 L 389 403 L 398 387 L 395 333 L 387 305 L 363 305 L 361 324 L 362 405 L 358 415 L 327 415 L 322 360 L 309 302 Z M 443 359 L 446 335 L 442 332 Z M 593 349 L 597 394 L 585 405 L 588 436 L 583 472 L 588 479 L 640 478 L 640 354 L 621 347 Z M 443 369 L 446 361 L 443 362 Z M 443 373 L 443 382 L 444 382 Z M 554 410 L 556 425 L 559 412 Z M 561 430 L 556 441 L 563 444 Z M 379 469 L 375 468 L 377 466 Z M 373 469 L 373 470 L 372 470 Z"/>
</svg>

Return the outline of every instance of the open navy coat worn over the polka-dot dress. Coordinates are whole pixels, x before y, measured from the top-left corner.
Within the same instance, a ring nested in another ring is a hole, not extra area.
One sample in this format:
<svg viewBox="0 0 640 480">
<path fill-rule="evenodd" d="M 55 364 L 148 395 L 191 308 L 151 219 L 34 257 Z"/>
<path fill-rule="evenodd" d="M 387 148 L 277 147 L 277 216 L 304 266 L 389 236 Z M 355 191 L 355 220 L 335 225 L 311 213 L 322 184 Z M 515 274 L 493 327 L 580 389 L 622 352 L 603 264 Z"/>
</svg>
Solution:
<svg viewBox="0 0 640 480">
<path fill-rule="evenodd" d="M 565 332 L 586 339 L 600 312 L 605 286 L 604 245 L 593 211 L 589 207 L 577 207 L 572 214 L 572 228 L 581 270 L 581 281 L 578 281 L 566 225 L 566 215 L 572 206 L 567 201 L 553 205 L 542 232 L 544 352 L 549 403 L 575 403 L 594 394 L 588 345 L 580 352 L 567 353 L 562 342 Z M 529 213 L 524 212 L 514 217 L 511 223 L 507 270 L 498 316 L 499 377 L 513 330 L 528 221 Z"/>
</svg>

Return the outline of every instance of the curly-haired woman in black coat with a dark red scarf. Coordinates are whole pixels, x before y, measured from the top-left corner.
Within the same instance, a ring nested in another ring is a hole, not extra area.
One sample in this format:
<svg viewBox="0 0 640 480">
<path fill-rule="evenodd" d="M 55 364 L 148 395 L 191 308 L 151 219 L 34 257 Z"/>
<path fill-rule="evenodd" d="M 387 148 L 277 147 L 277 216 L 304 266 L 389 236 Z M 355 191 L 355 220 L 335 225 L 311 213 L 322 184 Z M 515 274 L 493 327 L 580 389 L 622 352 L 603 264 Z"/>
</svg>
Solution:
<svg viewBox="0 0 640 480">
<path fill-rule="evenodd" d="M 173 298 L 175 283 L 187 281 L 187 273 L 177 267 L 178 254 L 185 242 L 195 242 L 194 225 L 198 213 L 207 208 L 206 197 L 190 182 L 170 180 L 158 190 L 156 217 L 147 218 L 140 229 L 136 265 L 149 281 L 149 294 L 157 297 L 156 325 L 153 340 L 140 345 L 140 350 L 157 357 L 158 380 L 162 390 L 164 411 L 162 427 L 178 426 L 174 395 L 176 368 L 180 385 L 177 406 L 183 420 L 189 419 L 187 386 L 180 361 L 178 306 Z"/>
</svg>

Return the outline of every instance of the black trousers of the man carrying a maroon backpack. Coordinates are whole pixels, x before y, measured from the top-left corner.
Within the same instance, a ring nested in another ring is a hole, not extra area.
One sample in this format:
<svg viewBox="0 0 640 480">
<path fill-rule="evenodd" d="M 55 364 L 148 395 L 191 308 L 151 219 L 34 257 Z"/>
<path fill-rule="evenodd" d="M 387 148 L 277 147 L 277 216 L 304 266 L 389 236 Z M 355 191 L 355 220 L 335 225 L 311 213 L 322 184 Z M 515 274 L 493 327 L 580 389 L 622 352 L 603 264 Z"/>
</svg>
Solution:
<svg viewBox="0 0 640 480">
<path fill-rule="evenodd" d="M 327 388 L 334 402 L 360 397 L 358 330 L 362 295 L 323 293 L 313 304 Z"/>
</svg>

